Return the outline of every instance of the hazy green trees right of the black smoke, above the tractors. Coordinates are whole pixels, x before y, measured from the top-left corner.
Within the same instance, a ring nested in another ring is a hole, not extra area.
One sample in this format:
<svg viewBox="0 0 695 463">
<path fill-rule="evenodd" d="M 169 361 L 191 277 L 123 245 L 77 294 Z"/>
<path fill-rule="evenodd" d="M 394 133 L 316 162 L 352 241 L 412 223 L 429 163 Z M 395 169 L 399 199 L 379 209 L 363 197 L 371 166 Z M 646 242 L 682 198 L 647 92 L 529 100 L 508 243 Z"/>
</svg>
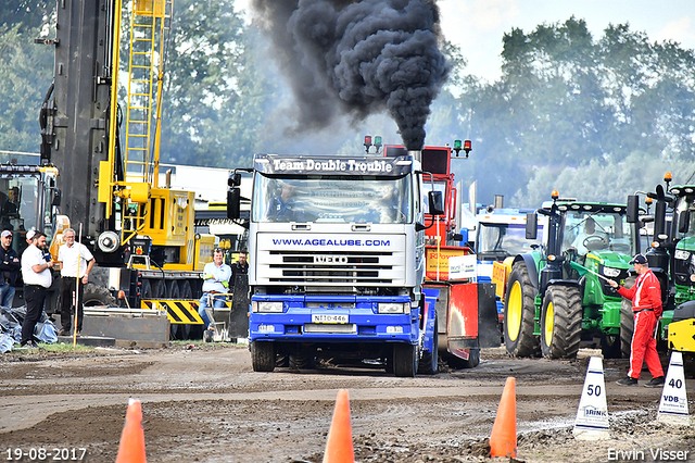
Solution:
<svg viewBox="0 0 695 463">
<path fill-rule="evenodd" d="M 523 201 L 518 205 L 538 205 L 552 189 L 569 195 L 565 187 L 585 191 L 572 195 L 579 198 L 624 201 L 635 188 L 619 179 L 631 162 L 655 158 L 648 165 L 656 166 L 657 159 L 693 154 L 692 50 L 652 43 L 627 25 L 611 25 L 594 41 L 574 17 L 529 34 L 513 29 L 503 41 L 502 78 L 471 85 L 458 98 L 475 141 L 467 170 L 484 180 L 483 200 L 504 193 Z M 598 189 L 599 178 L 614 178 L 614 186 Z"/>
</svg>

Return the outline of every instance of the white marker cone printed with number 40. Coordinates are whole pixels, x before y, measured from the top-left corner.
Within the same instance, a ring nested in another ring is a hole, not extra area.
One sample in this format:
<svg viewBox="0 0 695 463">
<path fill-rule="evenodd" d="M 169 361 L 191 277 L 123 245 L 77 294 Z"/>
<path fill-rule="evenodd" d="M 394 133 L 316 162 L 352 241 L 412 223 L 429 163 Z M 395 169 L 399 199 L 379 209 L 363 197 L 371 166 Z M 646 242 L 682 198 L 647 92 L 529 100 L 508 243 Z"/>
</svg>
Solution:
<svg viewBox="0 0 695 463">
<path fill-rule="evenodd" d="M 661 392 L 661 403 L 656 421 L 661 423 L 690 425 L 687 413 L 687 391 L 685 390 L 685 372 L 683 371 L 683 354 L 679 351 L 671 352 L 669 370 L 666 374 L 666 383 Z"/>
</svg>

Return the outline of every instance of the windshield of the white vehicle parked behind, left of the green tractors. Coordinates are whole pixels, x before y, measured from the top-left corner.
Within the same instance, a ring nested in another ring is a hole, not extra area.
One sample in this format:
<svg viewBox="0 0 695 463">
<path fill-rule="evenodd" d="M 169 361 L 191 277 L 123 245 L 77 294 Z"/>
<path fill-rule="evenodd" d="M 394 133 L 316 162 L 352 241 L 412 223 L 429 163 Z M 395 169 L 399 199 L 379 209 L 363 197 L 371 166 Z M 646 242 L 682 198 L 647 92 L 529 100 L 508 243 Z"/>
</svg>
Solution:
<svg viewBox="0 0 695 463">
<path fill-rule="evenodd" d="M 540 245 L 543 228 L 539 225 L 538 239 L 526 239 L 525 224 L 485 224 L 480 223 L 478 232 L 478 259 L 502 261 L 509 255 L 531 251 L 532 245 Z"/>
</svg>

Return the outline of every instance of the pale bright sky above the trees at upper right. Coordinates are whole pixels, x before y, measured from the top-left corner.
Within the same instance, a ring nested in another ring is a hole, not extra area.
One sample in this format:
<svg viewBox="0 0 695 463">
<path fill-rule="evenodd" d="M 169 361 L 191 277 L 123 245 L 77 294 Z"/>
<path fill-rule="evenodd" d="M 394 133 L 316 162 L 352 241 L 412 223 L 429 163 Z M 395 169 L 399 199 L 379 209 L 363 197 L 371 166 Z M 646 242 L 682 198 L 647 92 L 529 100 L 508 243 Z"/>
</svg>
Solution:
<svg viewBox="0 0 695 463">
<path fill-rule="evenodd" d="M 250 0 L 236 0 L 248 9 Z M 539 24 L 586 21 L 597 39 L 608 24 L 629 23 L 652 41 L 674 40 L 695 49 L 695 0 L 438 0 L 444 36 L 462 48 L 467 72 L 488 80 L 500 76 L 502 36 Z"/>
</svg>

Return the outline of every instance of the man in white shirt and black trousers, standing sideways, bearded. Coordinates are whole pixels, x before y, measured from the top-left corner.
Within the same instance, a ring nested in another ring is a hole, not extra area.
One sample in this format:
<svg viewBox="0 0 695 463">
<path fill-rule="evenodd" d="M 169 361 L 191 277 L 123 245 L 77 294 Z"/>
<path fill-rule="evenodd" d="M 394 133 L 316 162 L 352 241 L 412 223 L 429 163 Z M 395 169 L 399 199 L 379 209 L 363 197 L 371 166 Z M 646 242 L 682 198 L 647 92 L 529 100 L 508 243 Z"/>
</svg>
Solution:
<svg viewBox="0 0 695 463">
<path fill-rule="evenodd" d="M 42 249 L 46 248 L 46 235 L 36 232 L 31 238 L 31 246 L 22 253 L 22 278 L 24 279 L 24 301 L 26 316 L 22 324 L 22 346 L 35 346 L 34 327 L 43 312 L 46 292 L 53 281 L 52 261 L 43 259 Z"/>
</svg>

